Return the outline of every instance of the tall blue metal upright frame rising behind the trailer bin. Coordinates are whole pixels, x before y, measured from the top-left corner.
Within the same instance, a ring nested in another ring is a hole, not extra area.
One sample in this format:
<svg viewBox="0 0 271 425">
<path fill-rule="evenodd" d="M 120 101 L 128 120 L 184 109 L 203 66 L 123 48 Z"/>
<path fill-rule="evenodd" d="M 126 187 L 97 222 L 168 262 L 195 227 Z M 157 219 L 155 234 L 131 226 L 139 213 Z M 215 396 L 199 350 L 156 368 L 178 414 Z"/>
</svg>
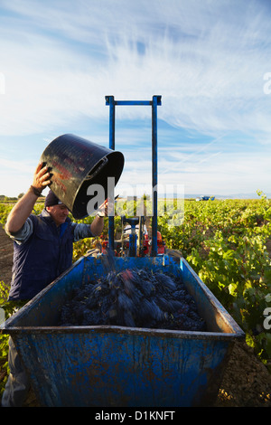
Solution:
<svg viewBox="0 0 271 425">
<path fill-rule="evenodd" d="M 161 105 L 162 96 L 153 96 L 153 100 L 115 100 L 114 96 L 106 96 L 109 106 L 109 148 L 115 150 L 115 107 L 120 106 L 151 106 L 152 107 L 152 185 L 153 185 L 153 220 L 152 220 L 152 252 L 157 256 L 157 106 Z M 114 250 L 114 216 L 108 222 L 109 248 Z"/>
</svg>

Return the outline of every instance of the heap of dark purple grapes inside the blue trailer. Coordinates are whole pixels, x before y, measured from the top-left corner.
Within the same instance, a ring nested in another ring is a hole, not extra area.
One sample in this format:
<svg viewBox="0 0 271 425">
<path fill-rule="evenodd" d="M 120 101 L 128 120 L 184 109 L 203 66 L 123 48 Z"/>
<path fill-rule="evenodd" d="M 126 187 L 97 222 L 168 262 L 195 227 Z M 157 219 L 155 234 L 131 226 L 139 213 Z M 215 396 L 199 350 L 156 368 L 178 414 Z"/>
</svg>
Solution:
<svg viewBox="0 0 271 425">
<path fill-rule="evenodd" d="M 151 269 L 110 271 L 75 289 L 62 307 L 60 325 L 205 330 L 181 279 Z"/>
</svg>

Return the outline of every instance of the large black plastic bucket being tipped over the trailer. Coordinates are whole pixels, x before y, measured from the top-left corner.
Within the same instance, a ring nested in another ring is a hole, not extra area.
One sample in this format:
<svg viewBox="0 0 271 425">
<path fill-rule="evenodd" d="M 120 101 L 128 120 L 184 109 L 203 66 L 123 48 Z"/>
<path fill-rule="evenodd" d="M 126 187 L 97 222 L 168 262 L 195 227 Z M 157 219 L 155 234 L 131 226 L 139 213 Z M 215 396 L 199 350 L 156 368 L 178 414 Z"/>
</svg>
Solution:
<svg viewBox="0 0 271 425">
<path fill-rule="evenodd" d="M 121 152 L 71 134 L 52 140 L 42 153 L 41 161 L 51 172 L 51 191 L 65 203 L 75 219 L 93 213 L 88 208 L 94 196 L 87 194 L 89 185 L 100 184 L 107 199 L 107 178 L 114 177 L 116 185 L 124 167 Z"/>
</svg>

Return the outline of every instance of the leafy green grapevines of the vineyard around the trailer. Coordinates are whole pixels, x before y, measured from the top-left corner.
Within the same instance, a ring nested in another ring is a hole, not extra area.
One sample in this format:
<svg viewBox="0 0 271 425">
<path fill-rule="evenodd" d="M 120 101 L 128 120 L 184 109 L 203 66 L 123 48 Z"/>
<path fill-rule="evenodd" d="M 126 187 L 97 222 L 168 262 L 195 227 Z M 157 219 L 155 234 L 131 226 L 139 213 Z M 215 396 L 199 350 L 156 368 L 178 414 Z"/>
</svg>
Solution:
<svg viewBox="0 0 271 425">
<path fill-rule="evenodd" d="M 271 373 L 271 201 L 258 195 L 255 200 L 185 200 L 184 218 L 183 212 L 173 216 L 167 205 L 158 216 L 158 230 L 166 248 L 182 253 L 246 332 L 248 346 Z M 0 204 L 3 224 L 12 206 Z M 127 215 L 133 215 L 135 203 L 125 207 Z M 36 203 L 34 213 L 41 210 L 42 203 Z M 121 220 L 116 217 L 116 238 L 120 233 Z M 100 239 L 74 244 L 74 260 L 103 239 L 107 239 L 107 220 Z M 0 304 L 5 302 L 8 283 L 0 276 Z M 0 338 L 0 366 L 4 367 L 6 337 Z"/>
</svg>

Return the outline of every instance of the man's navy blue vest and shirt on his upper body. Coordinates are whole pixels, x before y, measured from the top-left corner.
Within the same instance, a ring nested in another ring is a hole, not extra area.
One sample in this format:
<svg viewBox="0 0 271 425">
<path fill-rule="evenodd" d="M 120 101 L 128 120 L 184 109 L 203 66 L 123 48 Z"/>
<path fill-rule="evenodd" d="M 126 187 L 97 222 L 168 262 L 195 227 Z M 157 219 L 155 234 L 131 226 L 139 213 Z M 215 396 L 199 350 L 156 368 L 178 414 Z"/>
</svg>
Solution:
<svg viewBox="0 0 271 425">
<path fill-rule="evenodd" d="M 9 233 L 8 233 L 9 234 Z M 9 300 L 31 299 L 72 264 L 73 242 L 92 237 L 89 224 L 56 226 L 45 210 L 31 214 L 14 240 L 14 267 Z"/>
</svg>

